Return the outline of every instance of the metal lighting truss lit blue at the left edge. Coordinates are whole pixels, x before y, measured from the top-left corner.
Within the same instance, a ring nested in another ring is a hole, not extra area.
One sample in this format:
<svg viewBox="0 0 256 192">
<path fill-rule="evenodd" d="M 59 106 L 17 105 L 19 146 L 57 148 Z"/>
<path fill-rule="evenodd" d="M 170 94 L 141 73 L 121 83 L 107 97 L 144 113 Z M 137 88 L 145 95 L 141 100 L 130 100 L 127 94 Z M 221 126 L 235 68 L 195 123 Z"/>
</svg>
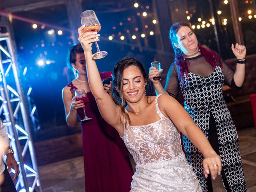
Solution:
<svg viewBox="0 0 256 192">
<path fill-rule="evenodd" d="M 30 102 L 31 88 L 26 95 L 23 94 L 18 70 L 10 34 L 0 33 L 0 115 L 5 118 L 3 124 L 10 138 L 10 146 L 20 165 L 16 189 L 18 192 L 42 192 L 24 96 L 28 96 L 34 129 L 38 129 L 36 118 L 33 119 L 36 106 Z"/>
</svg>

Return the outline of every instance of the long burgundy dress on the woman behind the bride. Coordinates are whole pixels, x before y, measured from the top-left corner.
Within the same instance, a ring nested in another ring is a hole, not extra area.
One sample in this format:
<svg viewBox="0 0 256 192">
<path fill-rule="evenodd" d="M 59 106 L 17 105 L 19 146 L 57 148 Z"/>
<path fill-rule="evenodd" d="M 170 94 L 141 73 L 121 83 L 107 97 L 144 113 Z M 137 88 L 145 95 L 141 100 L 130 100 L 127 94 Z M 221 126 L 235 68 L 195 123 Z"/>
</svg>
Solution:
<svg viewBox="0 0 256 192">
<path fill-rule="evenodd" d="M 68 87 L 74 96 L 77 88 L 72 82 Z M 100 115 L 92 93 L 86 95 L 86 115 L 92 118 L 81 122 L 86 192 L 128 192 L 133 175 L 128 150 L 118 132 Z M 84 118 L 82 108 L 77 113 Z"/>
</svg>

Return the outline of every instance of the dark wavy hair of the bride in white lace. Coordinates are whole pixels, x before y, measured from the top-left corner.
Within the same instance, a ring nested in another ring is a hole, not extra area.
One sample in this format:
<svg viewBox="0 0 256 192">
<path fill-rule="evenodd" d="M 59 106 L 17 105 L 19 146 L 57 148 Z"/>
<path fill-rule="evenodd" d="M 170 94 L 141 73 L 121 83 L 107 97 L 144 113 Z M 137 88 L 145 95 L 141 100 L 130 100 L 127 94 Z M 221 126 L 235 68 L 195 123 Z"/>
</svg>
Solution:
<svg viewBox="0 0 256 192">
<path fill-rule="evenodd" d="M 114 70 L 112 71 L 113 98 L 116 104 L 121 106 L 121 113 L 125 117 L 125 120 L 128 120 L 129 122 L 130 122 L 130 118 L 124 110 L 124 108 L 127 106 L 127 102 L 125 100 L 125 96 L 123 92 L 123 73 L 124 73 L 124 70 L 130 66 L 136 66 L 140 70 L 145 84 L 148 81 L 148 75 L 146 74 L 144 67 L 138 60 L 136 60 L 133 57 L 124 57 L 120 61 L 118 61 L 114 66 Z M 146 89 L 147 89 L 147 86 L 146 86 Z M 147 98 L 147 101 L 148 100 L 150 100 L 149 97 Z M 123 120 L 121 119 L 121 121 Z"/>
</svg>

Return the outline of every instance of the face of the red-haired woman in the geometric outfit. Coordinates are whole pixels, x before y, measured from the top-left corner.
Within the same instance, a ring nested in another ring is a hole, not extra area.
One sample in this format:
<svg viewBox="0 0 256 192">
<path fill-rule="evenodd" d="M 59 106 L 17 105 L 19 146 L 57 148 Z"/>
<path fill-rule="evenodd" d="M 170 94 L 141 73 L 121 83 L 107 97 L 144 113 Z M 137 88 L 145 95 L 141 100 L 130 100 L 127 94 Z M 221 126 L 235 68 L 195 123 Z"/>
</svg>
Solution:
<svg viewBox="0 0 256 192">
<path fill-rule="evenodd" d="M 176 47 L 180 48 L 182 52 L 186 54 L 192 54 L 198 49 L 198 41 L 196 34 L 187 26 L 182 26 L 178 30 L 177 34 L 178 44 L 174 44 Z"/>
</svg>

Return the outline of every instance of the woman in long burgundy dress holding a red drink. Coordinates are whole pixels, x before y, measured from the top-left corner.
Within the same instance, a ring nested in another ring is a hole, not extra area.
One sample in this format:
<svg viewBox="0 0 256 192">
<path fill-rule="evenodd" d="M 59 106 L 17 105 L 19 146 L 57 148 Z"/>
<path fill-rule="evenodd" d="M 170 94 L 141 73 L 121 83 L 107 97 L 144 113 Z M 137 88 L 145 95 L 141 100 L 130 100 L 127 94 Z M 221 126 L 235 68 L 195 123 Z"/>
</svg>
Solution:
<svg viewBox="0 0 256 192">
<path fill-rule="evenodd" d="M 72 67 L 75 79 L 62 90 L 68 126 L 76 124 L 77 116 L 81 121 L 84 154 L 84 173 L 86 192 L 128 192 L 132 182 L 132 167 L 122 139 L 108 125 L 98 110 L 90 92 L 86 74 L 84 50 L 80 44 L 70 47 L 67 63 Z M 106 91 L 110 90 L 106 85 Z M 88 102 L 76 101 L 75 90 L 84 89 Z"/>
</svg>

